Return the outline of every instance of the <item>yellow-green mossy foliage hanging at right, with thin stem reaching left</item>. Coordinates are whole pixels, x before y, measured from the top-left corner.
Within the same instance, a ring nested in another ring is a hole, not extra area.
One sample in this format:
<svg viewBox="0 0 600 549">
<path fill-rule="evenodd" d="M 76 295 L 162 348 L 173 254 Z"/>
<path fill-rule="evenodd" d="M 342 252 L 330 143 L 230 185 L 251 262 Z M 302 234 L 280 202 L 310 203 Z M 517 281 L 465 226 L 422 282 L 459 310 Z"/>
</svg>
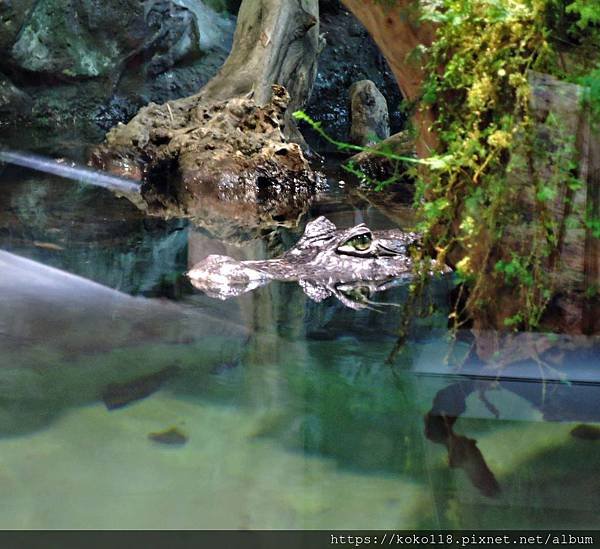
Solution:
<svg viewBox="0 0 600 549">
<path fill-rule="evenodd" d="M 420 161 L 377 153 L 402 162 L 405 169 L 397 172 L 415 180 L 417 229 L 426 245 L 413 286 L 422 287 L 431 265 L 427 254 L 435 250 L 438 259 L 457 261 L 471 316 L 485 317 L 502 306 L 498 296 L 508 295 L 504 326 L 533 329 L 556 290 L 550 267 L 561 235 L 583 227 L 595 236 L 598 231 L 590 215 L 555 219 L 556 198 L 565 193 L 572 200 L 582 187 L 578 151 L 560 116 L 550 113 L 543 124 L 535 119 L 531 74 L 583 85 L 583 99 L 600 121 L 600 4 L 428 0 L 421 9 L 436 37 L 431 46 L 419 46 L 428 74 L 420 108 L 434 111 L 440 151 Z M 565 52 L 575 59 L 569 66 Z M 320 125 L 311 125 L 327 138 Z M 330 141 L 341 150 L 360 149 Z M 361 176 L 356 167 L 349 170 Z M 458 323 L 461 314 L 451 318 Z"/>
</svg>

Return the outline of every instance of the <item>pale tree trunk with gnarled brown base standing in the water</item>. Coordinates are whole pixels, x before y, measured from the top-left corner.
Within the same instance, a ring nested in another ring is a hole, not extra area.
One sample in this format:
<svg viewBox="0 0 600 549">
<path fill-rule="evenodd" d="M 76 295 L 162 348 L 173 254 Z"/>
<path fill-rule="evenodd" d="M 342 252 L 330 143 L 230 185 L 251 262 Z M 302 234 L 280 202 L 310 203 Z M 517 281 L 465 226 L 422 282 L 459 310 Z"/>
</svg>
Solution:
<svg viewBox="0 0 600 549">
<path fill-rule="evenodd" d="M 113 128 L 91 163 L 143 180 L 150 210 L 222 213 L 250 228 L 297 219 L 319 178 L 290 113 L 310 95 L 320 48 L 317 0 L 244 0 L 219 73 L 198 94 L 151 103 Z M 269 216 L 274 203 L 283 207 Z"/>
</svg>

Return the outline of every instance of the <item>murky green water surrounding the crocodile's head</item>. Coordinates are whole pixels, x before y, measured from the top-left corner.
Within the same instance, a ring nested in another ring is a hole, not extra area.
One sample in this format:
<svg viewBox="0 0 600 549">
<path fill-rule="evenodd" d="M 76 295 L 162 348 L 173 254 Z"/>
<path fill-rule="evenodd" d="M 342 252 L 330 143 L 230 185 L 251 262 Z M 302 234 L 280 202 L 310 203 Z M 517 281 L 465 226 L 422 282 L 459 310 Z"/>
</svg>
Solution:
<svg viewBox="0 0 600 549">
<path fill-rule="evenodd" d="M 0 249 L 35 262 L 0 255 L 0 528 L 600 526 L 593 351 L 459 376 L 446 278 L 390 364 L 398 307 L 295 283 L 220 301 L 183 276 L 210 253 L 276 257 L 302 226 L 233 244 L 102 189 L 0 181 Z M 309 219 L 394 226 L 330 187 Z"/>
</svg>

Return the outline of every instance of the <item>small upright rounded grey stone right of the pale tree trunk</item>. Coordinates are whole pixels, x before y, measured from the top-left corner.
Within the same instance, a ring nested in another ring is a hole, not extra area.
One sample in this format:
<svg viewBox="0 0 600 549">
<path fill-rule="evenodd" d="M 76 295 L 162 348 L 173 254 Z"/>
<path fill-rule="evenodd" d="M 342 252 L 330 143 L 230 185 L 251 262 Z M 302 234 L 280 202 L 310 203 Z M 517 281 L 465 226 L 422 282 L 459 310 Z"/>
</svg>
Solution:
<svg viewBox="0 0 600 549">
<path fill-rule="evenodd" d="M 355 145 L 374 145 L 389 137 L 387 102 L 371 80 L 361 80 L 350 88 L 350 112 L 350 141 Z"/>
</svg>

